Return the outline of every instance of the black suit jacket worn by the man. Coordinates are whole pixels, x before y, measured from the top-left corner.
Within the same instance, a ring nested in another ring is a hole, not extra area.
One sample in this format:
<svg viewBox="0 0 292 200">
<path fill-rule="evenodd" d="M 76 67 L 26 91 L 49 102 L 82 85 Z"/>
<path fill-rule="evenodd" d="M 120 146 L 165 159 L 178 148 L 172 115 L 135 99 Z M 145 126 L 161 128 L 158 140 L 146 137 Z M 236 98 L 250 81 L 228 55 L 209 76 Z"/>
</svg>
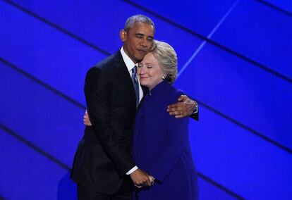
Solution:
<svg viewBox="0 0 292 200">
<path fill-rule="evenodd" d="M 85 80 L 87 112 L 92 127 L 75 154 L 74 182 L 104 194 L 114 194 L 131 159 L 135 89 L 120 51 L 91 68 Z"/>
</svg>

